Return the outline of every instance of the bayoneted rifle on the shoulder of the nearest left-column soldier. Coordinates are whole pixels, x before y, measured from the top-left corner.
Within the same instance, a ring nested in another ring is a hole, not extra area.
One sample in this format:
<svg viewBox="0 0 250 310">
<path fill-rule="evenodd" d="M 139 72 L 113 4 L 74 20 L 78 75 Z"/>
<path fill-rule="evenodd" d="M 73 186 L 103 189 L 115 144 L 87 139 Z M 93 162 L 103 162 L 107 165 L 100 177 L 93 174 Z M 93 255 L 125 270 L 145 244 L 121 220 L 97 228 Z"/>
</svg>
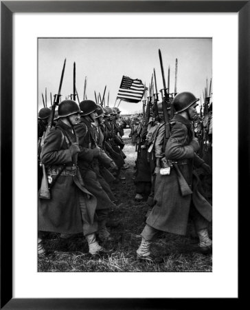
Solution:
<svg viewBox="0 0 250 310">
<path fill-rule="evenodd" d="M 62 74 L 60 76 L 60 85 L 59 85 L 58 94 L 54 94 L 54 103 L 52 105 L 52 112 L 49 116 L 49 122 L 47 125 L 46 132 L 43 134 L 43 141 L 45 141 L 45 138 L 47 138 L 47 135 L 52 130 L 56 105 L 59 105 L 59 102 L 60 102 L 60 96 L 61 96 L 60 91 L 62 88 L 63 76 L 65 74 L 65 64 L 66 64 L 66 59 L 65 59 L 65 62 L 63 64 Z M 43 144 L 41 144 L 41 147 L 43 147 Z M 45 165 L 42 164 L 42 167 L 43 167 L 43 178 L 42 178 L 41 188 L 39 191 L 39 198 L 50 199 L 49 184 L 48 184 L 48 180 L 47 180 Z"/>
</svg>

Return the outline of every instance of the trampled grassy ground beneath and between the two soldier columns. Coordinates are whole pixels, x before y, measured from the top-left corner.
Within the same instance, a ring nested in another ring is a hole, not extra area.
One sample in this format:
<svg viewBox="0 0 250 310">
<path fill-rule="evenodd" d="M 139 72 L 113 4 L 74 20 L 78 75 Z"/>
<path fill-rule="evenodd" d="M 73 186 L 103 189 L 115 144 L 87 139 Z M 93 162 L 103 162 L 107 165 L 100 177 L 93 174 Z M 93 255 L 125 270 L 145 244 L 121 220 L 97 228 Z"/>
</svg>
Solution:
<svg viewBox="0 0 250 310">
<path fill-rule="evenodd" d="M 137 153 L 128 138 L 129 131 L 125 130 L 124 138 L 124 153 L 127 156 L 125 161 L 129 169 L 122 171 L 122 176 L 126 176 L 126 180 L 112 187 L 120 207 L 113 211 L 111 218 L 120 220 L 120 225 L 110 231 L 120 239 L 104 244 L 106 248 L 113 249 L 112 253 L 102 258 L 90 258 L 87 241 L 82 234 L 73 235 L 67 240 L 60 239 L 58 234 L 48 234 L 44 239 L 47 254 L 38 258 L 38 271 L 212 271 L 212 255 L 204 255 L 198 251 L 198 238 L 192 223 L 188 225 L 186 236 L 164 233 L 154 242 L 152 252 L 163 256 L 163 264 L 137 261 L 136 249 L 141 242 L 140 233 L 145 225 L 148 206 L 145 201 L 136 203 L 134 200 L 133 174 Z M 212 234 L 211 227 L 209 233 Z"/>
</svg>

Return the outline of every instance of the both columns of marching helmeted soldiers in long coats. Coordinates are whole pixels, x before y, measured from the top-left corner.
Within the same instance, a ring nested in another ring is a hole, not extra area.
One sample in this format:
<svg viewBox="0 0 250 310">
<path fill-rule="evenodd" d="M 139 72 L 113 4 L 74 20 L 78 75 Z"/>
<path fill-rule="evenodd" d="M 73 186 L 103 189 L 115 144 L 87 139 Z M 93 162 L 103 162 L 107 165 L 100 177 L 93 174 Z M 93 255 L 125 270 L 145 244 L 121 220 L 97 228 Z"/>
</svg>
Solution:
<svg viewBox="0 0 250 310">
<path fill-rule="evenodd" d="M 181 92 L 166 103 L 157 103 L 133 118 L 130 137 L 135 145 L 135 200 L 147 198 L 146 226 L 137 249 L 139 260 L 161 262 L 150 248 L 159 231 L 185 235 L 192 218 L 203 253 L 211 252 L 208 226 L 212 206 L 201 178 L 212 182 L 212 105 L 204 116 L 197 114 L 199 99 Z M 172 114 L 174 109 L 174 114 Z M 44 138 L 49 108 L 39 111 L 38 140 L 38 254 L 45 253 L 47 231 L 69 238 L 83 234 L 91 256 L 107 254 L 101 242 L 113 240 L 106 227 L 117 200 L 112 183 L 120 181 L 126 155 L 123 152 L 124 122 L 117 107 L 94 101 L 62 101 L 52 130 Z M 170 136 L 166 136 L 166 126 Z M 43 136 L 43 138 L 42 138 Z M 202 159 L 203 158 L 203 159 Z M 44 169 L 43 169 L 44 167 Z M 49 198 L 43 196 L 43 178 Z M 210 182 L 210 183 L 209 183 Z"/>
</svg>

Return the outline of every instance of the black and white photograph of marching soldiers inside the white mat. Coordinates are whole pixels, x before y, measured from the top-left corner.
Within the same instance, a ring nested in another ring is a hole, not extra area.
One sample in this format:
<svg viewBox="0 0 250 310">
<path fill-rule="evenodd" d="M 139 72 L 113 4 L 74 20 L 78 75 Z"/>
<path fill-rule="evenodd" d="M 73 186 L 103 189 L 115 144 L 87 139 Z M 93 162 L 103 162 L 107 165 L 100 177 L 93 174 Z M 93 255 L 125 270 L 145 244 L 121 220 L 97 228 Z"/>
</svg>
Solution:
<svg viewBox="0 0 250 310">
<path fill-rule="evenodd" d="M 38 272 L 213 271 L 212 45 L 38 37 Z"/>
</svg>

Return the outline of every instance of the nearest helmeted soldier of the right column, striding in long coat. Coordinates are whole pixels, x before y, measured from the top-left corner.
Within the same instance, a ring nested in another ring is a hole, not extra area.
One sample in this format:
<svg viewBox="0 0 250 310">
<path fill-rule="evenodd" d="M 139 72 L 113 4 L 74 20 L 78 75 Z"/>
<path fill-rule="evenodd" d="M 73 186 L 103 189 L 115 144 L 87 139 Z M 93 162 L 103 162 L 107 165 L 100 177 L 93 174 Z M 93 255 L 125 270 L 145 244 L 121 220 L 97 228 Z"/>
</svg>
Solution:
<svg viewBox="0 0 250 310">
<path fill-rule="evenodd" d="M 194 166 L 203 168 L 207 174 L 211 172 L 210 167 L 196 155 L 199 146 L 197 138 L 194 138 L 192 118 L 198 100 L 190 92 L 181 92 L 174 97 L 176 113 L 166 143 L 166 161 L 155 180 L 155 205 L 141 232 L 141 245 L 137 249 L 140 260 L 160 262 L 161 259 L 150 253 L 152 241 L 159 231 L 185 235 L 189 216 L 200 240 L 199 249 L 203 252 L 212 249 L 212 240 L 207 232 L 212 220 L 212 206 L 201 194 L 201 182 L 194 172 Z"/>
</svg>

